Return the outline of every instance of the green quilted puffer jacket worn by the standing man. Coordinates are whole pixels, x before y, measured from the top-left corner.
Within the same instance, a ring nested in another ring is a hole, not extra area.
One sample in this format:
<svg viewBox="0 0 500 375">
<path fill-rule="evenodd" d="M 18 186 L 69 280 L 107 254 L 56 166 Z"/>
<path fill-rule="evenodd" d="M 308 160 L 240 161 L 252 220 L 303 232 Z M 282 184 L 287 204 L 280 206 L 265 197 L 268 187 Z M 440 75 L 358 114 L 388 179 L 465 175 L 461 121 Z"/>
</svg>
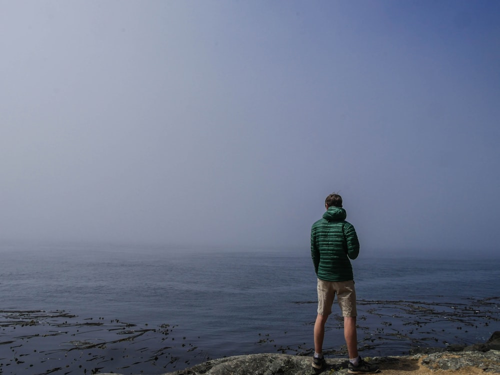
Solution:
<svg viewBox="0 0 500 375">
<path fill-rule="evenodd" d="M 328 207 L 323 218 L 312 224 L 311 257 L 318 279 L 353 280 L 350 259 L 359 254 L 359 241 L 343 208 Z"/>
</svg>

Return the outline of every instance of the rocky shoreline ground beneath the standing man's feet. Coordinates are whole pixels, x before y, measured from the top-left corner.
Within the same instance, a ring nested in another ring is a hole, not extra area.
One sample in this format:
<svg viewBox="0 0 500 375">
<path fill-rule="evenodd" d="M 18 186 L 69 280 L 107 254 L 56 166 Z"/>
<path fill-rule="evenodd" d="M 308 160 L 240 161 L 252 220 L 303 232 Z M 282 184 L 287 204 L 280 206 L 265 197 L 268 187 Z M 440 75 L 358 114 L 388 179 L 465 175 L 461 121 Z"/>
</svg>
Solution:
<svg viewBox="0 0 500 375">
<path fill-rule="evenodd" d="M 385 375 L 500 374 L 500 331 L 486 343 L 448 348 L 426 348 L 402 357 L 374 357 L 367 361 L 379 366 Z M 347 374 L 345 359 L 326 359 L 321 374 Z M 315 375 L 311 357 L 288 354 L 252 354 L 207 361 L 188 369 L 164 375 Z M 110 374 L 100 374 L 110 375 Z M 114 374 L 117 375 L 117 374 Z"/>
</svg>

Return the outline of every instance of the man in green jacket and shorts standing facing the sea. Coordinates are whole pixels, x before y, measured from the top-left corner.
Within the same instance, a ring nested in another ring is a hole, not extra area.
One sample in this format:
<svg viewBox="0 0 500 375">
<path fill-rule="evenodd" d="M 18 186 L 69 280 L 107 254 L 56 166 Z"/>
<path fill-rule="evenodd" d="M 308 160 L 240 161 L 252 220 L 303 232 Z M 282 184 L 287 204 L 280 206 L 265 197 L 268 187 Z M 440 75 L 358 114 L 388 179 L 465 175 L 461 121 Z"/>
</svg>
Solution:
<svg viewBox="0 0 500 375">
<path fill-rule="evenodd" d="M 373 374 L 376 366 L 363 361 L 357 353 L 356 336 L 356 292 L 349 259 L 359 254 L 359 241 L 352 224 L 345 221 L 342 198 L 330 194 L 325 199 L 326 212 L 311 228 L 311 257 L 317 275 L 317 317 L 314 324 L 314 358 L 312 367 L 323 369 L 322 354 L 324 325 L 331 314 L 333 298 L 344 319 L 344 338 L 349 353 L 348 374 Z"/>
</svg>

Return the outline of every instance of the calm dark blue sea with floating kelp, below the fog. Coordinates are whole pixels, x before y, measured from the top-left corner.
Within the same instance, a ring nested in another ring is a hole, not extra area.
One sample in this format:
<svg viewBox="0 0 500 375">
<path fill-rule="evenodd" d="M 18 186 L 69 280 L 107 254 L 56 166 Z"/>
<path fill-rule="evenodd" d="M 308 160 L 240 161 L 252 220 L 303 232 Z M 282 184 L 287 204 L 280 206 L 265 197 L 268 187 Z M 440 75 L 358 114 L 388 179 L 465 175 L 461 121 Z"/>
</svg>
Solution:
<svg viewBox="0 0 500 375">
<path fill-rule="evenodd" d="M 251 353 L 311 355 L 309 250 L 0 245 L 0 374 L 162 374 Z M 486 341 L 500 258 L 360 254 L 362 356 Z M 333 307 L 324 352 L 345 357 Z"/>
</svg>

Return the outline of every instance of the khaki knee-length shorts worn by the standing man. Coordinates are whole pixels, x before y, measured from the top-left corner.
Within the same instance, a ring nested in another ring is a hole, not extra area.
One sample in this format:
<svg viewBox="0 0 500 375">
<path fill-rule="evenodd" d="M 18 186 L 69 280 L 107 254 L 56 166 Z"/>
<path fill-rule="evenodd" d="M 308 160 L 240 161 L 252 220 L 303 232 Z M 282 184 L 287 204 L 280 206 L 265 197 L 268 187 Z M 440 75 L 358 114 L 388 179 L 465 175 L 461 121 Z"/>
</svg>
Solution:
<svg viewBox="0 0 500 375">
<path fill-rule="evenodd" d="M 356 291 L 354 281 L 324 281 L 317 279 L 317 313 L 330 315 L 333 298 L 337 295 L 338 306 L 343 317 L 355 317 Z"/>
</svg>

